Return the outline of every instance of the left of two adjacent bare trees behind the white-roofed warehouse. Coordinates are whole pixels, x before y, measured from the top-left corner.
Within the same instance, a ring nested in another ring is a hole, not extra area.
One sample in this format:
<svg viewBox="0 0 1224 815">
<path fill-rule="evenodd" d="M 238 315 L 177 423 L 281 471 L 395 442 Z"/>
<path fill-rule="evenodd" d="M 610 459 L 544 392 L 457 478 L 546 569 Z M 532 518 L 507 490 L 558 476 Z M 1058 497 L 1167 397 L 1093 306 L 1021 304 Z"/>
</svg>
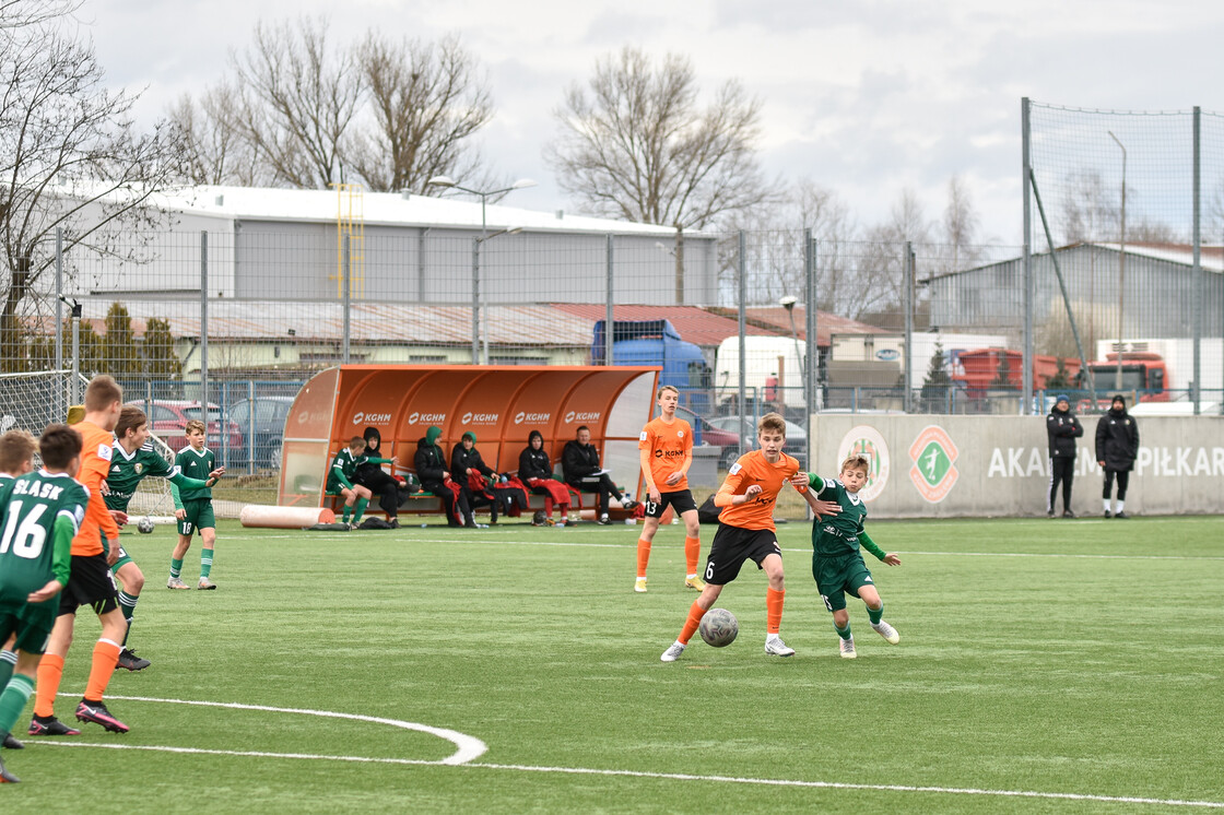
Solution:
<svg viewBox="0 0 1224 815">
<path fill-rule="evenodd" d="M 327 188 L 345 182 L 345 140 L 362 97 L 351 51 L 333 53 L 327 24 L 255 27 L 255 43 L 233 58 L 237 99 L 228 122 L 279 184 Z"/>
</svg>

